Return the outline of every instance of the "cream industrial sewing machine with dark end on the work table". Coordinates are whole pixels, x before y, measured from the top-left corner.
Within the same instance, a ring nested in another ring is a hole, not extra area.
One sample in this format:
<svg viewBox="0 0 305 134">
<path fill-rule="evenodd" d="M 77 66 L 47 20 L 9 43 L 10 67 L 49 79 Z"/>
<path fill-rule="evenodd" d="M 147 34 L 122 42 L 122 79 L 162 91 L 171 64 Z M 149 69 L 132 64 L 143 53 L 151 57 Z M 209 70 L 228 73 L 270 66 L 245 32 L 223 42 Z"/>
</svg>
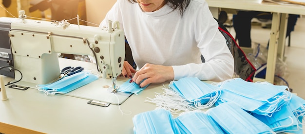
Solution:
<svg viewBox="0 0 305 134">
<path fill-rule="evenodd" d="M 108 28 L 0 17 L 0 66 L 13 66 L 22 73 L 24 82 L 48 84 L 60 76 L 57 53 L 91 55 L 103 78 L 113 79 L 121 74 L 125 58 L 125 38 L 118 22 L 109 21 Z M 1 75 L 21 78 L 19 72 L 8 68 Z"/>
</svg>

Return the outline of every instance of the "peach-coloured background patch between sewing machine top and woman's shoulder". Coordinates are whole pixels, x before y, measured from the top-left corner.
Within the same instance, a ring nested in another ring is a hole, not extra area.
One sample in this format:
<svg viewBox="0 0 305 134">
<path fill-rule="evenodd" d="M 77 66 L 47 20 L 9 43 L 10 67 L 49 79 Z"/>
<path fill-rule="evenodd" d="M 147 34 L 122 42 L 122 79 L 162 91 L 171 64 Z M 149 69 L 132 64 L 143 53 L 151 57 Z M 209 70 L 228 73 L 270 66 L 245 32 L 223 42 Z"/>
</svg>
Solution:
<svg viewBox="0 0 305 134">
<path fill-rule="evenodd" d="M 98 24 L 104 19 L 116 0 L 86 0 L 87 21 Z M 87 23 L 88 26 L 97 26 Z"/>
</svg>

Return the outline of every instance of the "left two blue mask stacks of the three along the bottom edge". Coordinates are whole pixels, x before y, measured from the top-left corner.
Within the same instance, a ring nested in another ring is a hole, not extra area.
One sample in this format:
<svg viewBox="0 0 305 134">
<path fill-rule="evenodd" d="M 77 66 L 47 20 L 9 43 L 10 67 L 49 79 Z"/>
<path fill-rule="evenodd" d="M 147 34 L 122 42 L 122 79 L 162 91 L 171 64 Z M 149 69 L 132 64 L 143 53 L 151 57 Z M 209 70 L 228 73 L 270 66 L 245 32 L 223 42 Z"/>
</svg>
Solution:
<svg viewBox="0 0 305 134">
<path fill-rule="evenodd" d="M 213 119 L 203 112 L 188 112 L 177 118 L 162 108 L 133 117 L 134 134 L 223 134 Z"/>
</svg>

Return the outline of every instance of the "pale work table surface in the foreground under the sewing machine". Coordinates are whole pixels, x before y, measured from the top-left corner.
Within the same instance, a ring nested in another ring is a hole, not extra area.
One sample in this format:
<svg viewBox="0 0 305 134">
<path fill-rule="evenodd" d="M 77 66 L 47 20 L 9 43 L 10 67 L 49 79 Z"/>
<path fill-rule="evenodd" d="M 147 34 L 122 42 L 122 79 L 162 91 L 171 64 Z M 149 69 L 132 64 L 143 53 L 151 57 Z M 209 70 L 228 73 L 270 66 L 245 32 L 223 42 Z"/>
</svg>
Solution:
<svg viewBox="0 0 305 134">
<path fill-rule="evenodd" d="M 73 66 L 66 60 L 59 60 L 61 67 L 62 63 Z M 96 69 L 92 63 L 81 62 L 78 66 Z M 10 80 L 12 78 L 4 77 L 5 83 Z M 107 81 L 107 84 L 112 83 L 111 79 Z M 22 91 L 6 87 L 8 100 L 0 101 L 0 133 L 133 134 L 132 118 L 156 108 L 155 104 L 145 100 L 147 97 L 154 98 L 155 92 L 162 92 L 162 87 L 162 84 L 151 84 L 139 95 L 133 94 L 120 107 L 113 104 L 108 107 L 91 105 L 87 104 L 89 100 L 60 94 L 45 96 L 32 88 Z M 122 115 L 120 109 L 131 114 Z"/>
</svg>

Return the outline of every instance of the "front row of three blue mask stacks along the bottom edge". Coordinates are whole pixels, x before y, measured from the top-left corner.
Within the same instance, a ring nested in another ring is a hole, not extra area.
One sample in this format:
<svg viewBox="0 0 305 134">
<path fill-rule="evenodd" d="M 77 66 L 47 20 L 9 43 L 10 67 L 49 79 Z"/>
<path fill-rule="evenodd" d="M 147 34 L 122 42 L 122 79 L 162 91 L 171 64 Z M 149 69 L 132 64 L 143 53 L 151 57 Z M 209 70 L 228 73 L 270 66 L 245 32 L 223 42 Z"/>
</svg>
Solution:
<svg viewBox="0 0 305 134">
<path fill-rule="evenodd" d="M 202 111 L 185 112 L 173 118 L 156 109 L 133 117 L 134 134 L 275 134 L 266 124 L 234 103 Z"/>
</svg>

